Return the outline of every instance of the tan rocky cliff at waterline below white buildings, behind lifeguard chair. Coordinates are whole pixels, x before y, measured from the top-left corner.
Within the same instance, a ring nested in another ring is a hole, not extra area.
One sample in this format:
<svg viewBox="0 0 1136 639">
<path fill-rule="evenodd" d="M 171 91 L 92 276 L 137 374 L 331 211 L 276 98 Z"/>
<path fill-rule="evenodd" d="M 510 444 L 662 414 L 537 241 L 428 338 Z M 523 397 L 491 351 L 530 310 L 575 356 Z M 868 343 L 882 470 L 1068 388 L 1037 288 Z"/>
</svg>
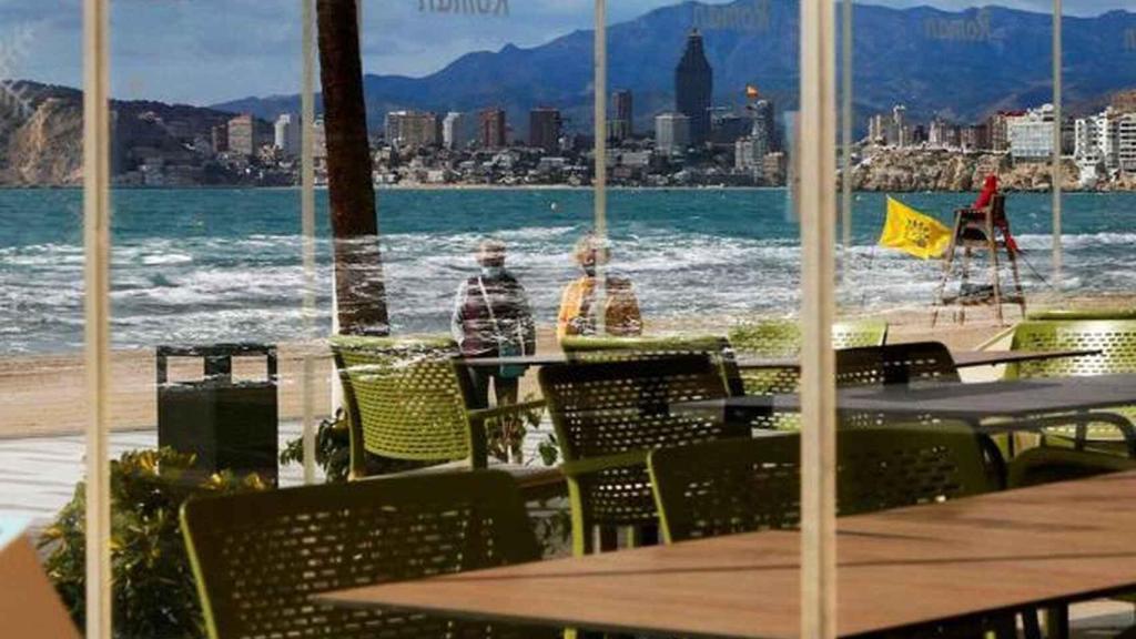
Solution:
<svg viewBox="0 0 1136 639">
<path fill-rule="evenodd" d="M 1077 166 L 1066 160 L 1062 186 L 1079 189 Z M 1004 190 L 1047 191 L 1049 163 L 1017 163 L 1008 153 L 961 153 L 944 149 L 869 148 L 852 172 L 863 191 L 977 191 L 996 173 Z M 1114 184 L 1101 188 L 1116 186 Z"/>
</svg>

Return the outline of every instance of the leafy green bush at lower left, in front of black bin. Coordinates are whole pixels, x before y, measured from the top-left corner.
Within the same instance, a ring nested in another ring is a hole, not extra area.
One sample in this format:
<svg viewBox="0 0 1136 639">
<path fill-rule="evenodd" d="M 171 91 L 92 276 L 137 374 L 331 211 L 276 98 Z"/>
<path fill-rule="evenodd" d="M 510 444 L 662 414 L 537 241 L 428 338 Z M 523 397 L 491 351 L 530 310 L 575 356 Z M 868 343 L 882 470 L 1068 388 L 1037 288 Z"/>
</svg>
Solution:
<svg viewBox="0 0 1136 639">
<path fill-rule="evenodd" d="M 110 463 L 111 575 L 115 636 L 124 639 L 197 638 L 204 634 L 201 607 L 178 509 L 190 497 L 265 490 L 257 475 L 225 472 L 203 481 L 192 455 L 169 448 L 125 453 Z M 85 609 L 84 482 L 40 539 L 56 589 L 80 626 Z"/>
</svg>

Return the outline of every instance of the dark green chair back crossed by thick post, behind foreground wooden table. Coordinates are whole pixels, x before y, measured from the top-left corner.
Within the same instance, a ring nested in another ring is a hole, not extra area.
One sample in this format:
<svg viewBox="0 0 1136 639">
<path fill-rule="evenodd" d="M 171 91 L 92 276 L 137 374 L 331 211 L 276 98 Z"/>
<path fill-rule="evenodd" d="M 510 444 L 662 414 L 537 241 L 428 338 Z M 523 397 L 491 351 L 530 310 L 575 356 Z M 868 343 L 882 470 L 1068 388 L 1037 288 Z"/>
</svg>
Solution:
<svg viewBox="0 0 1136 639">
<path fill-rule="evenodd" d="M 842 429 L 841 515 L 994 490 L 975 432 L 961 424 Z M 666 448 L 649 457 L 668 542 L 800 523 L 800 435 Z"/>
</svg>

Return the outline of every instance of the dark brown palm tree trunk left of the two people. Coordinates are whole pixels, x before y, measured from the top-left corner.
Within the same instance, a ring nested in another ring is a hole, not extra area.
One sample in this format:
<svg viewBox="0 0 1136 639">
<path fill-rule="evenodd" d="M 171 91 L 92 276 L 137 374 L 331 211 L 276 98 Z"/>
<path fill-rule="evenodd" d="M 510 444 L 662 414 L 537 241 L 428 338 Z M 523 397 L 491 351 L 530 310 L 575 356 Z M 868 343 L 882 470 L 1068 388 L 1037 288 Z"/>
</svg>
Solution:
<svg viewBox="0 0 1136 639">
<path fill-rule="evenodd" d="M 390 334 L 356 0 L 317 0 L 340 332 Z"/>
</svg>

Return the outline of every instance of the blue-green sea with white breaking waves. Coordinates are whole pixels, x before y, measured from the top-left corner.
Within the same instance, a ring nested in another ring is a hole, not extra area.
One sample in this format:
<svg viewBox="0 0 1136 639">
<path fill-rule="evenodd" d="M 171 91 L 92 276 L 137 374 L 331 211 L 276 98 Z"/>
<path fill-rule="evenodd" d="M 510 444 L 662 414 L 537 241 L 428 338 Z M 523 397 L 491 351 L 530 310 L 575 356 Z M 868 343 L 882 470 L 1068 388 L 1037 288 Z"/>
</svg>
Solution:
<svg viewBox="0 0 1136 639">
<path fill-rule="evenodd" d="M 972 196 L 911 193 L 946 221 Z M 320 310 L 302 322 L 296 190 L 122 190 L 112 196 L 112 338 L 165 342 L 284 341 L 331 326 L 326 193 L 317 198 Z M 592 226 L 586 190 L 389 190 L 378 193 L 395 331 L 445 330 L 471 251 L 488 235 L 552 323 L 575 276 L 570 250 Z M 1030 291 L 1050 277 L 1049 194 L 1013 194 L 1009 213 Z M 1064 197 L 1064 282 L 1078 292 L 1136 291 L 1136 194 Z M 939 273 L 874 247 L 885 196 L 860 193 L 841 297 L 853 306 L 925 306 Z M 799 304 L 799 229 L 783 190 L 618 190 L 608 218 L 616 267 L 635 282 L 648 317 L 787 314 Z M 0 352 L 55 352 L 83 340 L 82 193 L 0 191 Z"/>
</svg>

